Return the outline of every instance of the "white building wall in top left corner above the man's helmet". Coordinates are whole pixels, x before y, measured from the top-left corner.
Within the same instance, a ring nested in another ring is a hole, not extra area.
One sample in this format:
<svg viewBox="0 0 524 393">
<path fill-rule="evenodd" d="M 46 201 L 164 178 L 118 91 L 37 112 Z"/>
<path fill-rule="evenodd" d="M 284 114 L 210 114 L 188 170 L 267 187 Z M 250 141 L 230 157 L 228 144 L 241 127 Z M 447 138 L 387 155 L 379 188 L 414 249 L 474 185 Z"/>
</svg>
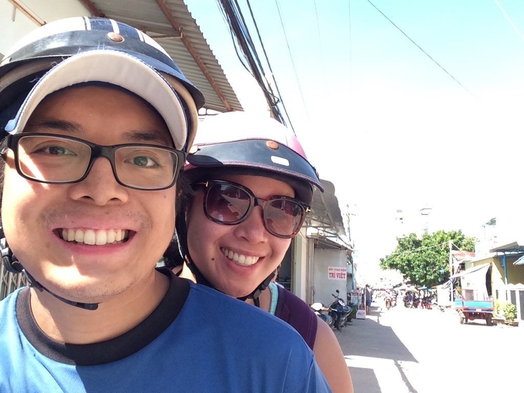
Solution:
<svg viewBox="0 0 524 393">
<path fill-rule="evenodd" d="M 18 0 L 18 2 L 46 23 L 71 16 L 91 15 L 79 0 Z M 8 0 L 0 0 L 0 53 L 5 55 L 16 41 L 38 26 Z"/>
</svg>

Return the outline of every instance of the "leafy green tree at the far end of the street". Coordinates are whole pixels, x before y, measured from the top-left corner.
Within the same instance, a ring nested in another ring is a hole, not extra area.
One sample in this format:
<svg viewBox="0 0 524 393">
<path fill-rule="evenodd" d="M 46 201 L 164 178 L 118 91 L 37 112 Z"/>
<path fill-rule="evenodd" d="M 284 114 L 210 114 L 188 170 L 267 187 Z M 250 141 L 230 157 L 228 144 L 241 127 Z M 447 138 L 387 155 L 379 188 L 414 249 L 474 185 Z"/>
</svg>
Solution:
<svg viewBox="0 0 524 393">
<path fill-rule="evenodd" d="M 432 287 L 450 277 L 449 241 L 453 249 L 474 251 L 476 238 L 465 236 L 462 231 L 436 231 L 397 238 L 394 252 L 380 258 L 381 269 L 397 269 L 409 277 L 413 285 Z"/>
</svg>

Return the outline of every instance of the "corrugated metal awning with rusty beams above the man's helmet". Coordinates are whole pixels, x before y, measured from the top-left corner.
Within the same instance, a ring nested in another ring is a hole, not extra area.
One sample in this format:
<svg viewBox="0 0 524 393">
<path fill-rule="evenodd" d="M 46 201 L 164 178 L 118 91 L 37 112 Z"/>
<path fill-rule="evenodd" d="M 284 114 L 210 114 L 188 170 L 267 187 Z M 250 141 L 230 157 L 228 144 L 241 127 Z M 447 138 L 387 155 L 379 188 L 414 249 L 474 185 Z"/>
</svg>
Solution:
<svg viewBox="0 0 524 393">
<path fill-rule="evenodd" d="M 94 16 L 116 19 L 155 38 L 205 97 L 205 108 L 242 111 L 199 26 L 183 0 L 81 0 Z"/>
</svg>

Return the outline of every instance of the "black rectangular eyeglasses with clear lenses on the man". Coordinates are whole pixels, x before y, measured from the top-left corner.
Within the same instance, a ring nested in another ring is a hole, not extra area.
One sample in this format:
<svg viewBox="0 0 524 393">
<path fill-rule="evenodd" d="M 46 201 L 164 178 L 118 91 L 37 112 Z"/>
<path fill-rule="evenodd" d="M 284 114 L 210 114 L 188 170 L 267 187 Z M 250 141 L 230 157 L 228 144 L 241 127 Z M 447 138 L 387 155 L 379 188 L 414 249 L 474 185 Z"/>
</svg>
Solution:
<svg viewBox="0 0 524 393">
<path fill-rule="evenodd" d="M 105 157 L 111 162 L 116 181 L 136 190 L 164 190 L 177 180 L 185 160 L 183 151 L 146 144 L 101 146 L 88 140 L 27 133 L 8 135 L 0 144 L 15 155 L 18 174 L 49 184 L 77 183 L 88 176 L 93 162 Z"/>
</svg>

